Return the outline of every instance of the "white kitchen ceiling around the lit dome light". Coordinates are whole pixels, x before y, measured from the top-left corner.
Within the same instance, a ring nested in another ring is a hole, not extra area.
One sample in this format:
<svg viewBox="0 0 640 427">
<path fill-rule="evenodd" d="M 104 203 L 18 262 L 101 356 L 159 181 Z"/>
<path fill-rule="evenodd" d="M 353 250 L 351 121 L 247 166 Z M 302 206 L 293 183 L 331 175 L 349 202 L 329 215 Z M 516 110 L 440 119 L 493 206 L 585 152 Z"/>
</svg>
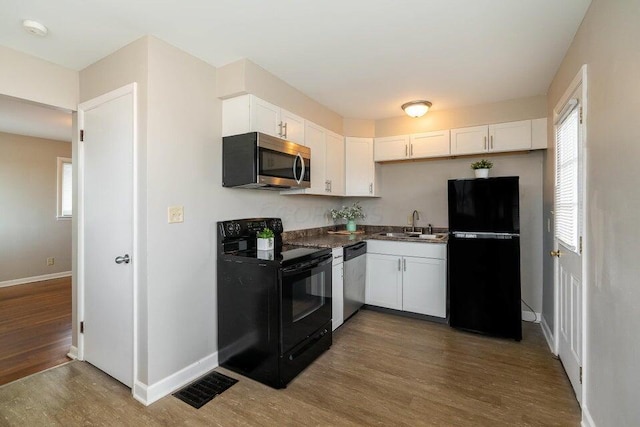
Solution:
<svg viewBox="0 0 640 427">
<path fill-rule="evenodd" d="M 248 58 L 344 117 L 545 94 L 591 0 L 0 0 L 0 45 L 80 70 L 152 34 Z M 37 38 L 21 27 L 49 28 Z"/>
</svg>

